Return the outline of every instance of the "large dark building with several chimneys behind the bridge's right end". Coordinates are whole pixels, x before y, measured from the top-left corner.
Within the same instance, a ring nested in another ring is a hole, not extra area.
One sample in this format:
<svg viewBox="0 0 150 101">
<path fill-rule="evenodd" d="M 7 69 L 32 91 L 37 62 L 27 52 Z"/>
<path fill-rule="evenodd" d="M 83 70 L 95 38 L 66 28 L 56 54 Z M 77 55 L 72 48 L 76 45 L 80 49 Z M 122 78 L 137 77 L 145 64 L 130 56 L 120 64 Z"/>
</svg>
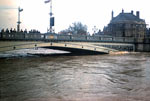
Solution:
<svg viewBox="0 0 150 101">
<path fill-rule="evenodd" d="M 103 29 L 104 34 L 116 37 L 144 37 L 146 34 L 145 20 L 140 18 L 140 12 L 136 15 L 131 11 L 130 13 L 122 12 L 114 17 L 112 11 L 112 19 L 107 27 Z"/>
</svg>

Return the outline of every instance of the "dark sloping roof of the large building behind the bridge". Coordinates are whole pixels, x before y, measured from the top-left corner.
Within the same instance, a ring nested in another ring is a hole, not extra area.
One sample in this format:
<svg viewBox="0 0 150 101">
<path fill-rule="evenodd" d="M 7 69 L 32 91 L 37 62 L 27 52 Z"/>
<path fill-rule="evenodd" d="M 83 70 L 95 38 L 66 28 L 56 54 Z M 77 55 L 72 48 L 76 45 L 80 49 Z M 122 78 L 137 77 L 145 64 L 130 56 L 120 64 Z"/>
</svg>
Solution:
<svg viewBox="0 0 150 101">
<path fill-rule="evenodd" d="M 145 24 L 143 19 L 140 19 L 138 16 L 133 13 L 120 13 L 118 16 L 114 17 L 110 23 L 139 23 Z"/>
</svg>

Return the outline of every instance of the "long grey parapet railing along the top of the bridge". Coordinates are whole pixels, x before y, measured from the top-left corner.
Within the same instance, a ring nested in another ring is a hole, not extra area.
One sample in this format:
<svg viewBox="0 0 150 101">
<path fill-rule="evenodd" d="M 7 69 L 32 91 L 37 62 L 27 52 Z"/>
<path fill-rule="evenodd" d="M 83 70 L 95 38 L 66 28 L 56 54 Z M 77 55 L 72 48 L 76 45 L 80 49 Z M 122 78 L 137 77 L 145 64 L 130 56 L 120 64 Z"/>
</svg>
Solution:
<svg viewBox="0 0 150 101">
<path fill-rule="evenodd" d="M 1 33 L 0 40 L 33 40 L 33 41 L 86 41 L 86 42 L 116 42 L 116 43 L 150 43 L 150 38 L 59 35 L 39 33 Z"/>
</svg>

